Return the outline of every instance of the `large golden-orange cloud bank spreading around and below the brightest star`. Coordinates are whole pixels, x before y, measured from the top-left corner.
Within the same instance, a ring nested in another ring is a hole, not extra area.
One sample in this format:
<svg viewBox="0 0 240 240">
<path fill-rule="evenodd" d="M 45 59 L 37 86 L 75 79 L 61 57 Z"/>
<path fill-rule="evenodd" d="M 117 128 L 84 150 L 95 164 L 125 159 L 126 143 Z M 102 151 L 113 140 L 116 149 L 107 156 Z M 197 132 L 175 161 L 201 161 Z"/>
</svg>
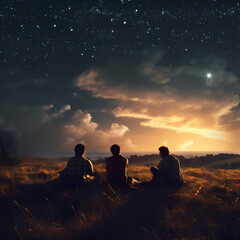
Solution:
<svg viewBox="0 0 240 240">
<path fill-rule="evenodd" d="M 151 54 L 129 71 L 122 70 L 124 63 L 114 72 L 112 66 L 89 69 L 75 80 L 75 86 L 93 97 L 114 100 L 112 114 L 117 118 L 137 119 L 144 127 L 226 139 L 225 126 L 234 115 L 230 112 L 239 104 L 238 79 L 227 70 L 227 62 L 209 56 L 169 68 L 162 63 L 163 56 L 163 52 Z M 207 72 L 212 73 L 211 83 Z"/>
</svg>

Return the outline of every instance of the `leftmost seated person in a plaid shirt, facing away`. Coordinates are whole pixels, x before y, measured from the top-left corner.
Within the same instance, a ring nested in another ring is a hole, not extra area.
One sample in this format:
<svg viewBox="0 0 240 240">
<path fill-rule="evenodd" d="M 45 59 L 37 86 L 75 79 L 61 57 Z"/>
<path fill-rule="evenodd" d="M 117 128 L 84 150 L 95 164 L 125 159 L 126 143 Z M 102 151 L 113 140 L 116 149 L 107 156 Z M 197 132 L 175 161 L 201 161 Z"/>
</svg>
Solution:
<svg viewBox="0 0 240 240">
<path fill-rule="evenodd" d="M 67 167 L 60 174 L 60 179 L 68 186 L 79 186 L 89 182 L 93 176 L 93 165 L 90 160 L 84 157 L 86 152 L 83 144 L 75 147 L 75 157 L 68 160 Z"/>
</svg>

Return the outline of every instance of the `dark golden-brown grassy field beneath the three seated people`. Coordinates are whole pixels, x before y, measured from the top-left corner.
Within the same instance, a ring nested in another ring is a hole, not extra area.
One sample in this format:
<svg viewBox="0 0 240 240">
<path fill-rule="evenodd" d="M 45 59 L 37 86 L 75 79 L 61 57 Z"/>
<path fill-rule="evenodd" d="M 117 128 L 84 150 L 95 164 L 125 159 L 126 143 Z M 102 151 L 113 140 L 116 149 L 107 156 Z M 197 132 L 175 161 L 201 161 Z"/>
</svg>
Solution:
<svg viewBox="0 0 240 240">
<path fill-rule="evenodd" d="M 149 180 L 149 166 L 129 164 Z M 0 170 L 0 239 L 240 239 L 240 170 L 185 168 L 180 190 L 111 189 L 104 164 L 95 184 L 65 189 L 64 160 L 25 159 Z"/>
</svg>

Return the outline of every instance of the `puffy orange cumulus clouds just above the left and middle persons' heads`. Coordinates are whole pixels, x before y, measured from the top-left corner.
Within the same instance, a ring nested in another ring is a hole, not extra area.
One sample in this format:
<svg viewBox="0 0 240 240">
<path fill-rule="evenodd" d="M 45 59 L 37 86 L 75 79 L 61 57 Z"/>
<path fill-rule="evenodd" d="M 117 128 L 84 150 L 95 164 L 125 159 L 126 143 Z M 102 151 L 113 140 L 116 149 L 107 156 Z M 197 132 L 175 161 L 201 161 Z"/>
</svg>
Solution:
<svg viewBox="0 0 240 240">
<path fill-rule="evenodd" d="M 72 121 L 64 125 L 65 141 L 63 147 L 66 150 L 73 149 L 74 145 L 81 142 L 87 145 L 88 151 L 107 151 L 114 144 L 120 144 L 125 151 L 136 147 L 125 134 L 129 128 L 125 125 L 112 123 L 109 130 L 103 131 L 99 124 L 92 121 L 88 112 L 77 110 Z"/>
</svg>

